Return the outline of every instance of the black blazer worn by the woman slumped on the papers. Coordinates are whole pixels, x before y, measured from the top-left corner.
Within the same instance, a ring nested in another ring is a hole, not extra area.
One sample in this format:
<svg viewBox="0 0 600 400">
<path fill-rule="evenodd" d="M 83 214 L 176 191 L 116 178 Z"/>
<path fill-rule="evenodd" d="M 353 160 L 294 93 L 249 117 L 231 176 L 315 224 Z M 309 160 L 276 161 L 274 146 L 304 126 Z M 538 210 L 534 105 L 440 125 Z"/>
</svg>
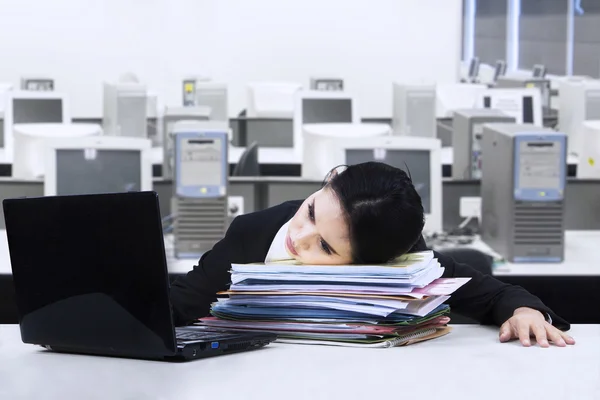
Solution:
<svg viewBox="0 0 600 400">
<path fill-rule="evenodd" d="M 264 262 L 279 228 L 294 216 L 301 204 L 300 200 L 289 201 L 234 219 L 225 237 L 202 256 L 192 271 L 171 285 L 175 323 L 184 325 L 208 315 L 216 293 L 227 290 L 231 282 L 231 264 Z M 422 237 L 413 250 L 427 250 Z M 435 257 L 445 268 L 444 277 L 471 278 L 448 301 L 453 311 L 484 324 L 499 326 L 515 309 L 530 307 L 550 315 L 556 327 L 569 329 L 565 320 L 525 289 L 483 275 L 440 253 L 435 252 Z"/>
</svg>

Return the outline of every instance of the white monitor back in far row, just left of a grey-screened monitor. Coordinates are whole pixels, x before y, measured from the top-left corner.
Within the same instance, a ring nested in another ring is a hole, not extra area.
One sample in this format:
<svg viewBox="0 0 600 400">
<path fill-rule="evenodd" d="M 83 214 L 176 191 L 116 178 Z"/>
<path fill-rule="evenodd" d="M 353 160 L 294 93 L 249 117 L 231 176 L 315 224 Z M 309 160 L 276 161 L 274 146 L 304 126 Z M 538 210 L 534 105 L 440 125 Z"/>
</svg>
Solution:
<svg viewBox="0 0 600 400">
<path fill-rule="evenodd" d="M 302 90 L 295 82 L 253 82 L 247 88 L 246 117 L 289 118 L 294 116 L 294 96 Z"/>
</svg>

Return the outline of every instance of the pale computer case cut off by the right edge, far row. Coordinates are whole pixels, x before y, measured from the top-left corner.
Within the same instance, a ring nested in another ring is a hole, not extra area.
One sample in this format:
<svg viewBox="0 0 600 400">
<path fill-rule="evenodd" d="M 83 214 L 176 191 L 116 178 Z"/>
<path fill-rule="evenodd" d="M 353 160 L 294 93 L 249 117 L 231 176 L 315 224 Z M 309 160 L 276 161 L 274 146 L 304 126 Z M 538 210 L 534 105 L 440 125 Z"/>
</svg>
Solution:
<svg viewBox="0 0 600 400">
<path fill-rule="evenodd" d="M 559 83 L 559 129 L 568 136 L 570 154 L 583 151 L 584 121 L 600 120 L 600 81 L 568 79 Z"/>
</svg>

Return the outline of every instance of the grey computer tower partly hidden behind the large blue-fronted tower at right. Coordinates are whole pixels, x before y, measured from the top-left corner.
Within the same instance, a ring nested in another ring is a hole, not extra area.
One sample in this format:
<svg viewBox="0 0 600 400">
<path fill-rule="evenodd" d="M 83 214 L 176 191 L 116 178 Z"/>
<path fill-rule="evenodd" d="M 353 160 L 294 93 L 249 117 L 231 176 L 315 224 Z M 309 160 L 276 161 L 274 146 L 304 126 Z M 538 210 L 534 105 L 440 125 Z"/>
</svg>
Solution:
<svg viewBox="0 0 600 400">
<path fill-rule="evenodd" d="M 452 119 L 452 177 L 481 179 L 483 124 L 515 123 L 515 118 L 490 108 L 461 109 Z"/>
</svg>

